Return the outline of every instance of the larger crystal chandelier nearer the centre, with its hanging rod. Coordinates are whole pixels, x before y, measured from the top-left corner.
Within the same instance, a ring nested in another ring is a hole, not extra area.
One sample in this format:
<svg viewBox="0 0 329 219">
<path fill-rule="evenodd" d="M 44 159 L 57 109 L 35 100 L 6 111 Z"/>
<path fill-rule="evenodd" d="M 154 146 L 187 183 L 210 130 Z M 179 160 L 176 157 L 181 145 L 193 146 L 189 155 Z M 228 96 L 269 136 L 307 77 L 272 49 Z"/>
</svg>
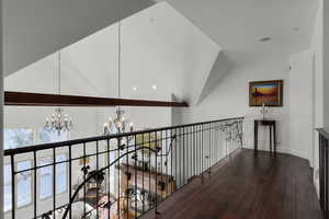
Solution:
<svg viewBox="0 0 329 219">
<path fill-rule="evenodd" d="M 117 71 L 117 96 L 121 97 L 121 22 L 117 24 L 117 43 L 118 43 L 118 71 Z M 111 134 L 121 134 L 126 131 L 133 131 L 134 125 L 128 119 L 124 117 L 124 111 L 121 107 L 116 110 L 116 117 L 113 120 L 112 117 L 109 118 L 109 122 L 104 124 L 104 135 Z"/>
</svg>

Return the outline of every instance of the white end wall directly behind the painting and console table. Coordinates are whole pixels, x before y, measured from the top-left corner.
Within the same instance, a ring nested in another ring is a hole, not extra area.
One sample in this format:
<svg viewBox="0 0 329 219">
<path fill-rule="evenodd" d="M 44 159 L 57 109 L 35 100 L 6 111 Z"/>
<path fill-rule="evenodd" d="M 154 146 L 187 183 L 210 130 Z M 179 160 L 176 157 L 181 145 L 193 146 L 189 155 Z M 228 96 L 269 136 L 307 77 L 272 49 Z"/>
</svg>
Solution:
<svg viewBox="0 0 329 219">
<path fill-rule="evenodd" d="M 246 116 L 245 147 L 253 148 L 253 119 L 260 118 L 260 107 L 249 107 L 249 82 L 262 80 L 284 80 L 283 107 L 272 107 L 269 118 L 279 123 L 277 149 L 288 151 L 288 57 L 272 56 L 250 60 L 248 65 L 235 67 L 225 76 L 214 91 L 198 105 L 183 113 L 184 123 L 213 120 Z M 259 147 L 269 149 L 269 134 L 260 129 Z"/>
</svg>

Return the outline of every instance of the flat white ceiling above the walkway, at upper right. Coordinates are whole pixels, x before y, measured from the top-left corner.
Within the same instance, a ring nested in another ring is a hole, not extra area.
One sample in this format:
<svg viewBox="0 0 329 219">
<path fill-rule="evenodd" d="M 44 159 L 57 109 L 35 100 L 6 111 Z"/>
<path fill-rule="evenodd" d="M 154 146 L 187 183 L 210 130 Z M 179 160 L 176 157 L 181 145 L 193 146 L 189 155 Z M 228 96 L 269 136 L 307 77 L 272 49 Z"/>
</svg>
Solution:
<svg viewBox="0 0 329 219">
<path fill-rule="evenodd" d="M 157 0 L 161 1 L 161 0 Z M 168 0 L 220 45 L 235 62 L 243 57 L 291 55 L 309 46 L 319 0 Z M 272 41 L 260 43 L 259 38 Z"/>
</svg>

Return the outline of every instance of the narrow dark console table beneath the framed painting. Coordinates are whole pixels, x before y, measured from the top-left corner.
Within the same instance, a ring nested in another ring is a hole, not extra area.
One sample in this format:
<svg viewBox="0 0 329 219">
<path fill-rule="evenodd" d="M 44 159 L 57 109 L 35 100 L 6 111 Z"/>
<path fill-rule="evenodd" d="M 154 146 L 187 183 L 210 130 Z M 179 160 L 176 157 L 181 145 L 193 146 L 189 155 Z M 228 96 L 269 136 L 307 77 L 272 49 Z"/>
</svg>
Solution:
<svg viewBox="0 0 329 219">
<path fill-rule="evenodd" d="M 270 154 L 274 151 L 276 155 L 276 123 L 275 120 L 254 120 L 254 152 L 258 151 L 258 127 L 259 125 L 269 126 L 270 129 Z M 273 135 L 273 138 L 272 138 Z M 274 147 L 272 147 L 272 143 Z"/>
</svg>

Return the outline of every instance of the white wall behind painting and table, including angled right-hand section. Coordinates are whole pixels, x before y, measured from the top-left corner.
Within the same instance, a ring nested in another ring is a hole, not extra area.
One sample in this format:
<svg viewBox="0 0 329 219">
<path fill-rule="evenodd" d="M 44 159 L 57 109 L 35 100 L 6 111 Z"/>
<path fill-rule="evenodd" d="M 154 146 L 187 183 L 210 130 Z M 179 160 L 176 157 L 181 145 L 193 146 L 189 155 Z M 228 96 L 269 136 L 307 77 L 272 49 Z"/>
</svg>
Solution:
<svg viewBox="0 0 329 219">
<path fill-rule="evenodd" d="M 277 122 L 277 150 L 308 159 L 314 165 L 313 51 L 295 56 L 274 54 L 236 66 L 198 105 L 182 114 L 183 123 L 246 116 L 245 146 L 253 148 L 253 120 L 260 107 L 249 106 L 249 82 L 284 80 L 283 107 L 271 107 L 268 118 Z M 292 71 L 290 71 L 290 67 Z M 260 129 L 259 148 L 269 150 L 269 130 Z"/>
</svg>

